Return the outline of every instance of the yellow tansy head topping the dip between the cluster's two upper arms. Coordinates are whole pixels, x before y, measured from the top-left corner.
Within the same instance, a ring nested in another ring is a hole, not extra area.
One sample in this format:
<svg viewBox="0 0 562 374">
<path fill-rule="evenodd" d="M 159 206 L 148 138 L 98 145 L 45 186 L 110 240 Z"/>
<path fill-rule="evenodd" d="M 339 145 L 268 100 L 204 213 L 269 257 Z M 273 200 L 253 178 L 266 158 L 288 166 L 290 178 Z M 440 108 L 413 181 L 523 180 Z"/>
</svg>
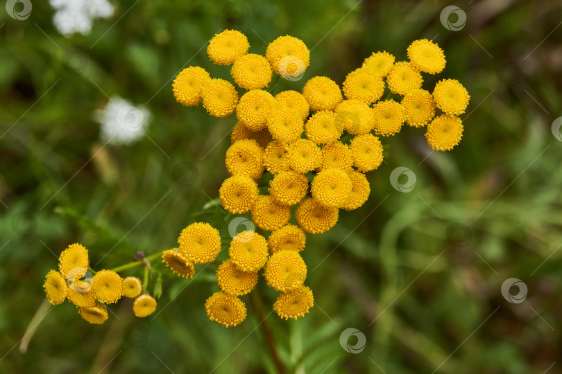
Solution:
<svg viewBox="0 0 562 374">
<path fill-rule="evenodd" d="M 327 77 L 310 78 L 303 87 L 303 96 L 312 110 L 334 110 L 341 103 L 341 89 Z"/>
</svg>

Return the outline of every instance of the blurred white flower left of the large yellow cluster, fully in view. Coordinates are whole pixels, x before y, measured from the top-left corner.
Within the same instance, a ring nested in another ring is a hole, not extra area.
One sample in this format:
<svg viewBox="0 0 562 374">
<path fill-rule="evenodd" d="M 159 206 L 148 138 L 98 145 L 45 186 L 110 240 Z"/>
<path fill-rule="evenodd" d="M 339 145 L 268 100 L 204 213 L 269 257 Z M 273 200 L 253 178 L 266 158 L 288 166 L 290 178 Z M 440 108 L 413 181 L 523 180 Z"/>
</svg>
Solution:
<svg viewBox="0 0 562 374">
<path fill-rule="evenodd" d="M 111 144 L 130 144 L 146 132 L 151 112 L 133 105 L 119 96 L 113 96 L 103 109 L 94 112 L 94 120 L 101 125 L 100 138 Z"/>
</svg>

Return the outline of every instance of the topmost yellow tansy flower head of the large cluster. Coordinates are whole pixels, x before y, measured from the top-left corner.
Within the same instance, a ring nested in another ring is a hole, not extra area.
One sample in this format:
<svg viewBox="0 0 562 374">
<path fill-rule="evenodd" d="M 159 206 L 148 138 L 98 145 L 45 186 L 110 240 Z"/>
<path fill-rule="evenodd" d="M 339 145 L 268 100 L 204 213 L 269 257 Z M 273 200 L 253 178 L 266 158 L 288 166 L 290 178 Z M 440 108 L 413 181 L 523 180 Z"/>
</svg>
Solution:
<svg viewBox="0 0 562 374">
<path fill-rule="evenodd" d="M 246 55 L 250 48 L 246 35 L 238 30 L 224 30 L 215 34 L 207 46 L 207 55 L 217 65 L 230 65 Z"/>
</svg>

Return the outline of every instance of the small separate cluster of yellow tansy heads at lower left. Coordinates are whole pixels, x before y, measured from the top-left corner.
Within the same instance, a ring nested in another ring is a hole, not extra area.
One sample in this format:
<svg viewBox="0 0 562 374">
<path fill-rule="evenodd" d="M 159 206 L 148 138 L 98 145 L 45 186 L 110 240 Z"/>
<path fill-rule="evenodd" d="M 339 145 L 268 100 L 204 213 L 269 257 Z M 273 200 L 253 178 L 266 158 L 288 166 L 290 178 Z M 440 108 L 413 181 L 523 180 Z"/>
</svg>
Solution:
<svg viewBox="0 0 562 374">
<path fill-rule="evenodd" d="M 156 300 L 143 293 L 139 278 L 121 278 L 112 270 L 100 270 L 92 276 L 88 250 L 71 244 L 60 253 L 58 271 L 46 274 L 43 285 L 49 303 L 58 305 L 65 300 L 78 307 L 78 314 L 86 321 L 101 324 L 108 320 L 107 304 L 117 303 L 121 296 L 135 299 L 133 312 L 146 317 L 156 310 Z"/>
</svg>

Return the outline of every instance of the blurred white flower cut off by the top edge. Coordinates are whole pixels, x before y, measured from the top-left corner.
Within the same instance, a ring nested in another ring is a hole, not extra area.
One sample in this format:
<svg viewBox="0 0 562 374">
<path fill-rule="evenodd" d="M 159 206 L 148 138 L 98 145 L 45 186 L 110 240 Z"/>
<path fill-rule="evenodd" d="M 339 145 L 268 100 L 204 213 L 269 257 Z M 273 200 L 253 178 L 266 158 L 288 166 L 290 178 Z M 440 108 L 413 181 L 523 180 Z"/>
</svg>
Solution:
<svg viewBox="0 0 562 374">
<path fill-rule="evenodd" d="M 49 3 L 56 9 L 53 24 L 65 36 L 88 35 L 95 18 L 111 17 L 115 10 L 108 0 L 49 0 Z"/>
</svg>

